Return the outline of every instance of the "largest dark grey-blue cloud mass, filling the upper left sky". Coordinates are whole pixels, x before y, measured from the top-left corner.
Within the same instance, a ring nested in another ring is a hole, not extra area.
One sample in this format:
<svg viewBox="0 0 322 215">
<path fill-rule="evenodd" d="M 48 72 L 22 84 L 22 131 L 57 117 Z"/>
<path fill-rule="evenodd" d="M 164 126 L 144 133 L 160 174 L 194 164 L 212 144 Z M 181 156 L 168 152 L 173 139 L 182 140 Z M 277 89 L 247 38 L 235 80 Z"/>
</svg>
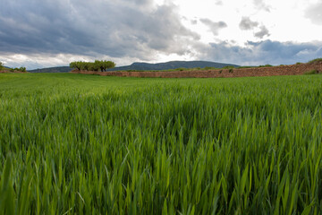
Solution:
<svg viewBox="0 0 322 215">
<path fill-rule="evenodd" d="M 199 35 L 186 29 L 174 5 L 151 0 L 16 0 L 0 4 L 0 50 L 148 58 L 183 55 Z"/>
</svg>

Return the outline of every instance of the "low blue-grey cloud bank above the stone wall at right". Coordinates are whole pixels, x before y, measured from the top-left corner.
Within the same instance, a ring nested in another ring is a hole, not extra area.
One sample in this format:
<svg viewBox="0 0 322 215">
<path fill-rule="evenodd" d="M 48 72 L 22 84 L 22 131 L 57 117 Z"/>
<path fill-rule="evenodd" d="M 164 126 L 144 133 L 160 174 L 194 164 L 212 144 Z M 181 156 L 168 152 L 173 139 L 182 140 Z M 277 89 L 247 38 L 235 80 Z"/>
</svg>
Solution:
<svg viewBox="0 0 322 215">
<path fill-rule="evenodd" d="M 201 45 L 199 52 L 205 60 L 233 64 L 294 64 L 321 57 L 322 42 L 292 43 L 264 40 L 249 41 L 246 47 L 232 46 L 226 42 Z"/>
</svg>

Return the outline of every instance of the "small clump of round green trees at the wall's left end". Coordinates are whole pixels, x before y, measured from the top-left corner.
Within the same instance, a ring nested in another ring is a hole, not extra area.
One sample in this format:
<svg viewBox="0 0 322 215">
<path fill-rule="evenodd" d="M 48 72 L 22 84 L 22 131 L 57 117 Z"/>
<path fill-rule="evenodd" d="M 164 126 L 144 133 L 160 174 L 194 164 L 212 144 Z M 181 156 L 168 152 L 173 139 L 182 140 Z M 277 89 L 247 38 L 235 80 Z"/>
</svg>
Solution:
<svg viewBox="0 0 322 215">
<path fill-rule="evenodd" d="M 98 61 L 98 60 L 96 60 L 95 62 L 75 61 L 70 64 L 70 67 L 77 70 L 105 72 L 106 69 L 114 68 L 115 63 L 112 61 Z"/>
</svg>

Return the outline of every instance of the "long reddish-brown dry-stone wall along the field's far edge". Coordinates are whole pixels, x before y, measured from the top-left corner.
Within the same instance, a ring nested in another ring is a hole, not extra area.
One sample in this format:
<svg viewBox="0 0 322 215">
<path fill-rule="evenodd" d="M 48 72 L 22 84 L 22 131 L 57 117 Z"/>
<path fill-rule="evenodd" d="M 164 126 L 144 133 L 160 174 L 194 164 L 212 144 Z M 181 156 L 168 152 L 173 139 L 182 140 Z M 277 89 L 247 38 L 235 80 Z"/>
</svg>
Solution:
<svg viewBox="0 0 322 215">
<path fill-rule="evenodd" d="M 298 75 L 317 70 L 322 73 L 322 62 L 315 64 L 292 64 L 279 65 L 272 67 L 254 67 L 254 68 L 235 68 L 200 70 L 200 71 L 175 71 L 175 72 L 94 72 L 94 71 L 72 71 L 72 73 L 99 74 L 103 76 L 120 77 L 142 77 L 142 78 L 233 78 L 233 77 L 251 77 L 251 76 L 273 76 L 273 75 Z"/>
</svg>

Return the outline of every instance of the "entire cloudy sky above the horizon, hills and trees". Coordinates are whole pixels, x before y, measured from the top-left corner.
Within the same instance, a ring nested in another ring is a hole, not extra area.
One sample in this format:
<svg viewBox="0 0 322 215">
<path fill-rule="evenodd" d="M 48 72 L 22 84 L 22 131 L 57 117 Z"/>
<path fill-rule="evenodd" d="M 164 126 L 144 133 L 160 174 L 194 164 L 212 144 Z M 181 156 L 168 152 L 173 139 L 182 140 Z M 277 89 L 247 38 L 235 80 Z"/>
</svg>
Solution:
<svg viewBox="0 0 322 215">
<path fill-rule="evenodd" d="M 0 0 L 0 61 L 294 64 L 322 57 L 322 0 Z"/>
</svg>

